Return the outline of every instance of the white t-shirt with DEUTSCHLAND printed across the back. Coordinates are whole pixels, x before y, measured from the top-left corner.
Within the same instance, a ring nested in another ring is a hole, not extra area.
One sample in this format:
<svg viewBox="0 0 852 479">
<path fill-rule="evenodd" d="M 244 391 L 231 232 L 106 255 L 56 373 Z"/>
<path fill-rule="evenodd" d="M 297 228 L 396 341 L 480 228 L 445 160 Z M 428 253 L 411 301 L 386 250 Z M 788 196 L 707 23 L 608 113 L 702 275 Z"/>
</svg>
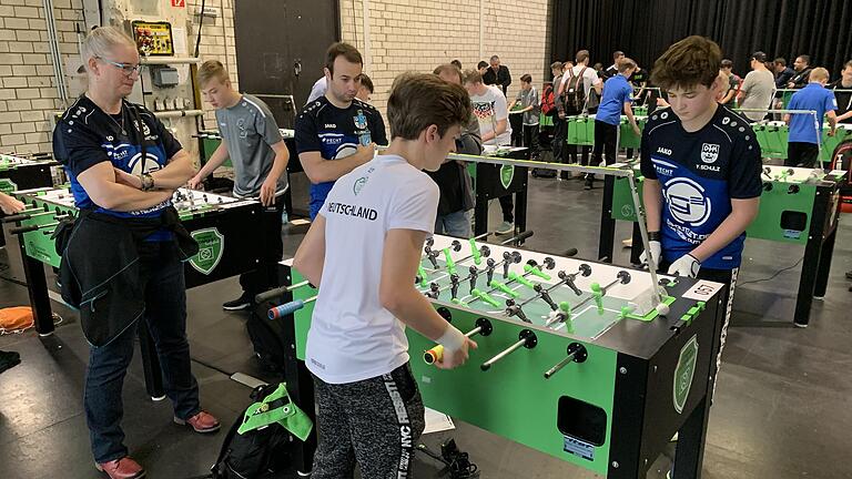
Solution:
<svg viewBox="0 0 852 479">
<path fill-rule="evenodd" d="M 325 264 L 305 354 L 323 381 L 369 379 L 408 361 L 405 325 L 378 300 L 382 253 L 389 230 L 432 233 L 438 196 L 426 173 L 395 155 L 376 156 L 332 187 L 320 210 Z"/>
</svg>

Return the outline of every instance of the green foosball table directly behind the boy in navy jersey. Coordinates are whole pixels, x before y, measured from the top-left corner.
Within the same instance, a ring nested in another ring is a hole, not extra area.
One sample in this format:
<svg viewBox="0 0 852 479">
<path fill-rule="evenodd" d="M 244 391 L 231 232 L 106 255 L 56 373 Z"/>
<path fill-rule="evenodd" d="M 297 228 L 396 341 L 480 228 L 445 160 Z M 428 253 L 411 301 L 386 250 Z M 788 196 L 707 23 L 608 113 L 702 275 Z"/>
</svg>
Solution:
<svg viewBox="0 0 852 479">
<path fill-rule="evenodd" d="M 641 198 L 642 176 L 639 166 L 635 167 L 637 190 Z M 802 274 L 793 314 L 797 326 L 808 326 L 813 298 L 825 294 L 841 206 L 840 188 L 845 183 L 846 175 L 848 172 L 842 170 L 825 173 L 819 169 L 763 167 L 760 210 L 746 234 L 751 238 L 804 247 Z M 636 208 L 627 180 L 615 180 L 609 212 L 610 223 L 636 222 Z M 601 231 L 605 230 L 613 231 L 613 228 L 601 228 Z M 599 254 L 611 257 L 612 243 L 611 233 L 609 237 L 601 237 Z M 636 224 L 633 245 L 636 246 L 631 252 L 631 261 L 639 263 L 641 240 Z"/>
</svg>

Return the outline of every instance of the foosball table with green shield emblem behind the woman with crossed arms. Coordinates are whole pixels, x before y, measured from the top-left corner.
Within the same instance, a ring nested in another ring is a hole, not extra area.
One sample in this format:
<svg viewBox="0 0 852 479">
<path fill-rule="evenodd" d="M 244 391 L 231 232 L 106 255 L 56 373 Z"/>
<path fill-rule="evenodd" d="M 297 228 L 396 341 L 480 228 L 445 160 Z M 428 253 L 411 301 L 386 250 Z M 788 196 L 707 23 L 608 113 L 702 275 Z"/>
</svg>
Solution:
<svg viewBox="0 0 852 479">
<path fill-rule="evenodd" d="M 53 333 L 53 319 L 44 265 L 58 268 L 61 262 L 52 233 L 59 221 L 75 217 L 78 208 L 68 187 L 26 190 L 13 195 L 27 208 L 3 222 L 16 224 L 9 232 L 18 235 L 36 329 L 45 336 Z M 184 263 L 187 288 L 251 272 L 264 259 L 258 201 L 180 188 L 172 204 L 199 243 L 199 253 Z M 92 261 L 97 261 L 94 252 Z M 144 322 L 140 322 L 140 339 L 148 390 L 152 397 L 161 397 L 160 366 Z"/>
</svg>

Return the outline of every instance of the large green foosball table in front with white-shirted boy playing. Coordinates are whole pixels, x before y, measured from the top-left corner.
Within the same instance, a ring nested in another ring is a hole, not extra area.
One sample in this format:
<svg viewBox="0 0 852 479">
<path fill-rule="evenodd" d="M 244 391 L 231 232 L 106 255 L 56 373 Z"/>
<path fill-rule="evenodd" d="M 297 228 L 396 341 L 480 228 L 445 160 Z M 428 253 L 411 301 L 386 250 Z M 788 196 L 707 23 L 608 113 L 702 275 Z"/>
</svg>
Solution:
<svg viewBox="0 0 852 479">
<path fill-rule="evenodd" d="M 658 286 L 647 272 L 438 235 L 413 281 L 478 343 L 442 370 L 430 364 L 440 348 L 408 329 L 427 407 L 608 478 L 645 478 L 679 431 L 674 478 L 700 477 L 722 285 Z M 270 314 L 292 329 L 301 366 L 288 384 L 305 386 L 317 292 L 296 271 L 292 285 L 282 299 L 293 302 Z M 305 387 L 297 400 L 314 410 Z"/>
</svg>

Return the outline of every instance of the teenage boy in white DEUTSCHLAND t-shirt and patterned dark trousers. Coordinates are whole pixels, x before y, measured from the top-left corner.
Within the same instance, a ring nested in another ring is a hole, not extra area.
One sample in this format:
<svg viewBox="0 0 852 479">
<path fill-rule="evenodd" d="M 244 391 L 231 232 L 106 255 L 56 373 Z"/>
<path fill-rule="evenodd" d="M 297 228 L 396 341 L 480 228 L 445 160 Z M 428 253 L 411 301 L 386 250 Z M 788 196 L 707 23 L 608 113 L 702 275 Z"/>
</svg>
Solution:
<svg viewBox="0 0 852 479">
<path fill-rule="evenodd" d="M 440 167 L 469 118 L 460 85 L 398 77 L 390 145 L 337 180 L 296 252 L 293 266 L 320 287 L 305 357 L 318 406 L 313 479 L 353 477 L 356 461 L 366 478 L 410 476 L 424 408 L 406 326 L 444 346 L 440 368 L 476 347 L 414 285 L 439 195 L 422 170 Z"/>
</svg>

